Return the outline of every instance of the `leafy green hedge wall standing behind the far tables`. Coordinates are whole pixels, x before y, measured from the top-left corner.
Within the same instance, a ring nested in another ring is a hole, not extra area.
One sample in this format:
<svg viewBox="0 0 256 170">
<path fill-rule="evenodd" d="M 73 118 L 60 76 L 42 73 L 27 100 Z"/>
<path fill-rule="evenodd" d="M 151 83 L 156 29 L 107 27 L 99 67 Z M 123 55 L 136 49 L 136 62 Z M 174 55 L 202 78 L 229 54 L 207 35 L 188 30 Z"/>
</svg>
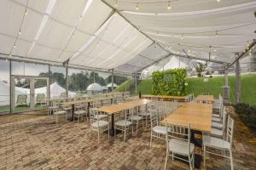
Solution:
<svg viewBox="0 0 256 170">
<path fill-rule="evenodd" d="M 185 86 L 186 69 L 154 71 L 152 74 L 152 94 L 183 96 L 188 94 Z"/>
</svg>

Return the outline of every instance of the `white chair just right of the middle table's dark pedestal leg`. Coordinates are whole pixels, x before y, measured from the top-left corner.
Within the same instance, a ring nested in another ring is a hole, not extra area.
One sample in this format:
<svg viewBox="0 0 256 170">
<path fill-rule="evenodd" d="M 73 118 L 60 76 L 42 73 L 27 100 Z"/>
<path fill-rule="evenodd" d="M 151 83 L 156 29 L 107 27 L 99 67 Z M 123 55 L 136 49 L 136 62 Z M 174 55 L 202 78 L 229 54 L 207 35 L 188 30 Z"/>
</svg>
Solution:
<svg viewBox="0 0 256 170">
<path fill-rule="evenodd" d="M 114 133 L 116 134 L 116 130 L 120 130 L 122 132 L 125 132 L 124 134 L 124 142 L 126 138 L 126 131 L 131 129 L 131 133 L 133 135 L 133 126 L 132 122 L 130 120 L 133 119 L 133 111 L 132 109 L 125 111 L 125 119 L 119 120 L 117 122 L 114 122 Z"/>
</svg>

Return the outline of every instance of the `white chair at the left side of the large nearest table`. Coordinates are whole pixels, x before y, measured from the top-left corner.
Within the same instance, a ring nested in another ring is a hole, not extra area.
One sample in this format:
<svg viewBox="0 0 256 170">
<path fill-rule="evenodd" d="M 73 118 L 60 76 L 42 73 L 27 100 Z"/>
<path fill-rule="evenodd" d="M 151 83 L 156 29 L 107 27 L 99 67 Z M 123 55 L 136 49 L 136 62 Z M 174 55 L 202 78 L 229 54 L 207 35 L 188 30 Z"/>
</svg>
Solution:
<svg viewBox="0 0 256 170">
<path fill-rule="evenodd" d="M 150 148 L 152 146 L 152 139 L 166 139 L 166 126 L 161 126 L 159 122 L 158 111 L 150 109 L 150 122 L 151 122 L 151 135 L 150 135 Z"/>
</svg>

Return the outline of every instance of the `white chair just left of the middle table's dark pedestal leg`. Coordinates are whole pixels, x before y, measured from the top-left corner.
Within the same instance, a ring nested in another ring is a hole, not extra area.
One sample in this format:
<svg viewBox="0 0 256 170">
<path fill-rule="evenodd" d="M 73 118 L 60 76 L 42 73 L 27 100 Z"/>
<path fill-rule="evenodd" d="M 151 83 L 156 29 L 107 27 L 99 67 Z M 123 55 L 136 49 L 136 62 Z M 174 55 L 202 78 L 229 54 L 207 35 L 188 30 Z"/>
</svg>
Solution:
<svg viewBox="0 0 256 170">
<path fill-rule="evenodd" d="M 108 130 L 109 139 L 109 122 L 99 119 L 98 111 L 90 110 L 90 138 L 91 131 L 96 131 L 98 134 L 98 143 L 100 143 L 100 133 Z"/>
</svg>

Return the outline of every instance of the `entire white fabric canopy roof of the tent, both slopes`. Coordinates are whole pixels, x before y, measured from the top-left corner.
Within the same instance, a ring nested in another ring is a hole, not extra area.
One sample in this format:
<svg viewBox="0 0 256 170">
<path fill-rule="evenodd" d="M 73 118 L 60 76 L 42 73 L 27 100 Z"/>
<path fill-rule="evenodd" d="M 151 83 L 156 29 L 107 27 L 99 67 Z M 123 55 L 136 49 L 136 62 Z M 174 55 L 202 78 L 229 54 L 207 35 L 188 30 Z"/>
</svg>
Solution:
<svg viewBox="0 0 256 170">
<path fill-rule="evenodd" d="M 230 62 L 256 38 L 253 0 L 167 3 L 2 0 L 0 54 L 131 73 L 171 52 Z"/>
</svg>

